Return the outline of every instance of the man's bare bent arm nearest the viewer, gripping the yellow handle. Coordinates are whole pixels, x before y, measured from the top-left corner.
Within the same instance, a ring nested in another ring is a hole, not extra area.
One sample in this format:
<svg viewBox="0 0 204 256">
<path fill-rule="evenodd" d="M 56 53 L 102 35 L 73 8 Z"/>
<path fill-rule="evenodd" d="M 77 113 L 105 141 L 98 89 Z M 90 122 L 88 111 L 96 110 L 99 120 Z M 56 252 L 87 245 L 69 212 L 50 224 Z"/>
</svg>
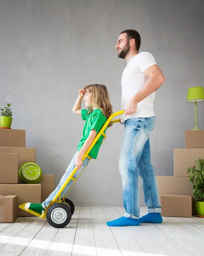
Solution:
<svg viewBox="0 0 204 256">
<path fill-rule="evenodd" d="M 158 65 L 152 65 L 144 70 L 144 75 L 148 77 L 147 82 L 141 90 L 139 90 L 130 100 L 125 108 L 125 116 L 131 115 L 137 111 L 137 105 L 143 99 L 147 98 L 150 94 L 155 92 L 161 84 L 165 82 L 164 75 L 162 74 Z"/>
</svg>

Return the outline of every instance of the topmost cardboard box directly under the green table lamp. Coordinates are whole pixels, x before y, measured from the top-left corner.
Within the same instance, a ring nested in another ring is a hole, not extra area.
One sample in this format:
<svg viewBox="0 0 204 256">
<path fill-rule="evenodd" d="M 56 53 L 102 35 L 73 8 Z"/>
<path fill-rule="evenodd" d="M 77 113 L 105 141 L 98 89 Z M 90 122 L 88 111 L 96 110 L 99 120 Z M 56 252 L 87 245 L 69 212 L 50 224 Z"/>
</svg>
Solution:
<svg viewBox="0 0 204 256">
<path fill-rule="evenodd" d="M 186 148 L 204 148 L 204 130 L 186 131 Z"/>
</svg>

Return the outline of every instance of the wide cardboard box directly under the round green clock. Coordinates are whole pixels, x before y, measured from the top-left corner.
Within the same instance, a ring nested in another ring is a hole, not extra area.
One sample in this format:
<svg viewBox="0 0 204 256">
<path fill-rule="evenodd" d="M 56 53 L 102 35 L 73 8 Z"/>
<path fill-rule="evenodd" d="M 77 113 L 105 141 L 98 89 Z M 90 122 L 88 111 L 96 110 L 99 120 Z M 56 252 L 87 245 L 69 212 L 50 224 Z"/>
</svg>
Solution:
<svg viewBox="0 0 204 256">
<path fill-rule="evenodd" d="M 29 202 L 33 204 L 41 203 L 40 184 L 0 184 L 0 195 L 17 195 L 18 206 Z M 33 214 L 18 208 L 18 216 L 34 216 Z"/>
</svg>

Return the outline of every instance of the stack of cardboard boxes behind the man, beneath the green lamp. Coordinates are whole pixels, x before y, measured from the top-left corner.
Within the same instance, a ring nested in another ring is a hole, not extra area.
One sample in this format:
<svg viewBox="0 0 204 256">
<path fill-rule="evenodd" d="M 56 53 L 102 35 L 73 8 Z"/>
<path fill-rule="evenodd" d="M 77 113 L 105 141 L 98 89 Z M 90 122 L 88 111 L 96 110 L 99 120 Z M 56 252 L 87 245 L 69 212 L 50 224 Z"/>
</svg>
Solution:
<svg viewBox="0 0 204 256">
<path fill-rule="evenodd" d="M 193 184 L 187 170 L 204 158 L 204 130 L 186 131 L 186 148 L 174 149 L 174 176 L 157 176 L 162 216 L 191 217 L 196 214 Z"/>
</svg>

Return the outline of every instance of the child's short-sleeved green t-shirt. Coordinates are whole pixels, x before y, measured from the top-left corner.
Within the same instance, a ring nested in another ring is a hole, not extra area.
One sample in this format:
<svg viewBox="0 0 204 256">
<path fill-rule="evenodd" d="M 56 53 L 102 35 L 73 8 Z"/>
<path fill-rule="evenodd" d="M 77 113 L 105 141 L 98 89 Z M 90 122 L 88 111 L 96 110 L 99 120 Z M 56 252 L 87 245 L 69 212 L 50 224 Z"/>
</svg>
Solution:
<svg viewBox="0 0 204 256">
<path fill-rule="evenodd" d="M 78 151 L 80 151 L 81 147 L 85 143 L 86 139 L 89 137 L 89 133 L 92 129 L 94 129 L 97 134 L 101 130 L 102 126 L 107 121 L 106 116 L 103 115 L 103 112 L 100 109 L 93 110 L 92 113 L 90 113 L 87 116 L 88 110 L 82 109 L 81 110 L 81 116 L 83 120 L 86 120 L 84 128 L 83 128 L 83 136 L 80 139 L 80 142 L 78 144 Z M 105 133 L 105 131 L 104 131 Z M 98 139 L 98 141 L 93 146 L 92 150 L 89 152 L 89 156 L 92 158 L 97 158 L 99 148 L 101 146 L 101 143 L 103 142 L 103 135 Z"/>
</svg>

